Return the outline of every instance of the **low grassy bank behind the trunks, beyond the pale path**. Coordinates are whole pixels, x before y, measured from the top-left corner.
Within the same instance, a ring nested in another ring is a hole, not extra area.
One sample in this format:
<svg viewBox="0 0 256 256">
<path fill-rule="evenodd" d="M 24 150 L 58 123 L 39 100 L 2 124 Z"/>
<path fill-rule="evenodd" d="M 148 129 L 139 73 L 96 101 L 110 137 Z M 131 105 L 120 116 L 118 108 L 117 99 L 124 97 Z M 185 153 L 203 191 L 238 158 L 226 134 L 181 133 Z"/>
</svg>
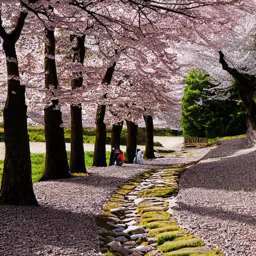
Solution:
<svg viewBox="0 0 256 256">
<path fill-rule="evenodd" d="M 45 142 L 44 127 L 27 127 L 29 140 L 35 142 Z M 83 143 L 95 143 L 96 129 L 86 128 L 83 129 Z M 120 136 L 121 145 L 126 145 L 127 129 L 122 129 Z M 173 136 L 173 132 L 170 129 L 154 129 L 155 136 Z M 71 128 L 64 128 L 65 142 L 70 143 L 71 140 Z M 4 141 L 3 127 L 0 127 L 0 142 Z M 106 144 L 111 143 L 111 130 L 106 131 Z M 145 144 L 145 128 L 139 127 L 137 131 L 137 144 Z"/>
</svg>

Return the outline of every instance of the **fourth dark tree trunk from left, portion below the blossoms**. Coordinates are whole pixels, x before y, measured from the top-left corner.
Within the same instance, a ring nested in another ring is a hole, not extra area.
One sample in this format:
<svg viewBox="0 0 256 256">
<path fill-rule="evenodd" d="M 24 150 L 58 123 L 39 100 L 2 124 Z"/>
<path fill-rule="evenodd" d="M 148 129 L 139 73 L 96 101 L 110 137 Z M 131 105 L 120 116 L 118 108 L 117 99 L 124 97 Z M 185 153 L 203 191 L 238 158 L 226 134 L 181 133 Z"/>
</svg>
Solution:
<svg viewBox="0 0 256 256">
<path fill-rule="evenodd" d="M 96 138 L 92 166 L 106 166 L 106 125 L 104 123 L 105 105 L 98 105 L 95 124 Z"/>
</svg>

